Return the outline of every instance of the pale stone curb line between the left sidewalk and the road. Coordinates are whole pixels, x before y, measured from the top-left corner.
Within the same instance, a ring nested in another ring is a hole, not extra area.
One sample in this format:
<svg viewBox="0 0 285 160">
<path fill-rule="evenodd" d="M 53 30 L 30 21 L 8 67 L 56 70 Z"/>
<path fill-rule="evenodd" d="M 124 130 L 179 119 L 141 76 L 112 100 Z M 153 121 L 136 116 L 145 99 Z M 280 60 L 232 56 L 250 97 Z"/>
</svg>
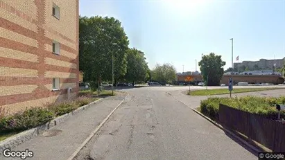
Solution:
<svg viewBox="0 0 285 160">
<path fill-rule="evenodd" d="M 121 101 L 121 103 L 119 103 L 119 105 L 117 105 L 112 112 L 110 112 L 109 115 L 107 115 L 105 117 L 105 119 L 100 123 L 100 125 L 98 125 L 95 130 L 93 130 L 93 132 L 88 136 L 87 139 L 85 139 L 85 141 L 80 145 L 79 148 L 77 148 L 77 150 L 74 152 L 74 154 L 71 155 L 71 157 L 69 157 L 69 159 L 67 160 L 72 160 L 76 157 L 76 155 L 78 154 L 78 152 L 80 152 L 80 150 L 83 149 L 83 147 L 90 141 L 90 139 L 92 139 L 92 137 L 94 136 L 94 134 L 96 134 L 96 132 L 98 132 L 98 130 L 100 130 L 100 128 L 104 125 L 104 123 L 106 123 L 106 121 L 110 118 L 110 116 L 112 116 L 112 114 L 116 111 L 116 109 L 123 103 L 124 100 L 126 100 L 126 98 L 129 96 L 129 93 L 127 92 L 127 96 L 125 98 L 123 98 L 123 100 Z"/>
</svg>

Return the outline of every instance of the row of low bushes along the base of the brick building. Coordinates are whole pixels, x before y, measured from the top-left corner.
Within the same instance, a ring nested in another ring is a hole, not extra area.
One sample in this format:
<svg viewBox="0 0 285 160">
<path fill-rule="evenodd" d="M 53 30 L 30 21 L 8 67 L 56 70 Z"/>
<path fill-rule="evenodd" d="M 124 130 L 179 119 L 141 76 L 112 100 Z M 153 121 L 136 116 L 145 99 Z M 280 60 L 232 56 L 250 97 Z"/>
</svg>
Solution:
<svg viewBox="0 0 285 160">
<path fill-rule="evenodd" d="M 43 125 L 56 116 L 72 112 L 78 107 L 91 103 L 93 100 L 95 99 L 80 97 L 76 100 L 53 103 L 45 107 L 33 107 L 10 116 L 5 116 L 3 109 L 0 109 L 0 134 L 28 130 Z"/>
</svg>

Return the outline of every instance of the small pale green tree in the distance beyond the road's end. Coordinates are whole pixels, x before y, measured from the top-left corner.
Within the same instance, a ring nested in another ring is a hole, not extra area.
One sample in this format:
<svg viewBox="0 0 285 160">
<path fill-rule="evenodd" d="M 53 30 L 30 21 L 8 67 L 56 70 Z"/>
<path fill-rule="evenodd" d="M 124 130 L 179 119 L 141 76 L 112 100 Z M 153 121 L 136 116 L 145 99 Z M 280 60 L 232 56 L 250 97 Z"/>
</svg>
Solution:
<svg viewBox="0 0 285 160">
<path fill-rule="evenodd" d="M 172 64 L 157 64 L 153 71 L 150 71 L 151 80 L 157 82 L 172 83 L 176 80 L 176 69 Z"/>
</svg>

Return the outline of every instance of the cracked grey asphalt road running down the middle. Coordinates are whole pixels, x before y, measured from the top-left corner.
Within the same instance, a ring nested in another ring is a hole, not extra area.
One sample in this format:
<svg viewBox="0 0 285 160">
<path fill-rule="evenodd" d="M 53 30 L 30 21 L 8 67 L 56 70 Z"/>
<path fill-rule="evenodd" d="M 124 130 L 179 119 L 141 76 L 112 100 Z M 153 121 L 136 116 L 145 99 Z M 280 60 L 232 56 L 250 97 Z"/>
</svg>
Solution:
<svg viewBox="0 0 285 160">
<path fill-rule="evenodd" d="M 187 89 L 128 89 L 130 96 L 76 159 L 257 159 L 252 150 L 180 103 L 178 100 L 197 107 L 205 98 L 183 96 L 181 91 Z M 285 94 L 284 89 L 276 92 Z M 258 96 L 273 92 L 254 93 Z"/>
</svg>

